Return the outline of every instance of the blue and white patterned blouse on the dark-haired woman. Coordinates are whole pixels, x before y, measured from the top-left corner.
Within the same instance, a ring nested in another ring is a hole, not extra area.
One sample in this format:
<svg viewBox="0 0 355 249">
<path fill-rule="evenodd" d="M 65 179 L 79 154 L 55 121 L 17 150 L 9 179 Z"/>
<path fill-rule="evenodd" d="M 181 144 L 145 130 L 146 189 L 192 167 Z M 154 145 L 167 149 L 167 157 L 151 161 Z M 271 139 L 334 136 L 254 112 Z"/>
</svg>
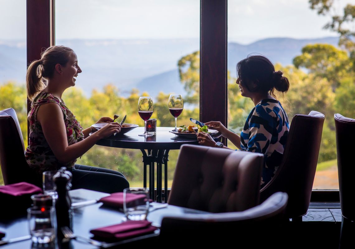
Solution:
<svg viewBox="0 0 355 249">
<path fill-rule="evenodd" d="M 250 112 L 240 134 L 241 150 L 265 155 L 261 187 L 275 175 L 282 160 L 289 120 L 276 99 L 263 99 Z"/>
</svg>

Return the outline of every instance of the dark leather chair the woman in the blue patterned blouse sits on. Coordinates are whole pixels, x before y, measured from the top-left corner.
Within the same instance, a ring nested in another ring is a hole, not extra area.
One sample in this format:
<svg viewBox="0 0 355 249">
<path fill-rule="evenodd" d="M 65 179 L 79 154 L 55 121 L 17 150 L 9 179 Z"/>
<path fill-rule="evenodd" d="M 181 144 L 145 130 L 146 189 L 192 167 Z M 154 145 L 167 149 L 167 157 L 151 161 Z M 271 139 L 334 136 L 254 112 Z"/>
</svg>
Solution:
<svg viewBox="0 0 355 249">
<path fill-rule="evenodd" d="M 317 111 L 293 117 L 282 163 L 271 181 L 260 190 L 261 201 L 276 192 L 287 193 L 286 217 L 293 221 L 302 221 L 310 204 L 323 123 L 324 115 Z"/>
</svg>

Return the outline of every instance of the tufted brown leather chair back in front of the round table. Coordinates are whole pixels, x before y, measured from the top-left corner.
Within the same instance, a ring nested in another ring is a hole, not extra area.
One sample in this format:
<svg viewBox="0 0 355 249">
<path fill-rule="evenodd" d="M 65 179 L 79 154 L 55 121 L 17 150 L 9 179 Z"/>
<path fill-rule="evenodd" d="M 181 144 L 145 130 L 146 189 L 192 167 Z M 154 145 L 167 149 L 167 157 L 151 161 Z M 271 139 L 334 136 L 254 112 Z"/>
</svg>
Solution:
<svg viewBox="0 0 355 249">
<path fill-rule="evenodd" d="M 168 203 L 208 212 L 243 211 L 259 204 L 263 154 L 183 145 Z"/>
</svg>

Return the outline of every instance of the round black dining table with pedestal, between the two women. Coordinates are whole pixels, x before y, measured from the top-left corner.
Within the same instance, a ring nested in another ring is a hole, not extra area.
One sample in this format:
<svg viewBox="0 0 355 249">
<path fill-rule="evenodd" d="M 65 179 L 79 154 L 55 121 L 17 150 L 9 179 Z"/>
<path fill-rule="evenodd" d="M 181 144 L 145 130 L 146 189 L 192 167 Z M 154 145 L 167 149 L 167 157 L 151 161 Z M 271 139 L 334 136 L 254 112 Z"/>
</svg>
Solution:
<svg viewBox="0 0 355 249">
<path fill-rule="evenodd" d="M 178 136 L 169 131 L 173 127 L 157 127 L 157 132 L 151 137 L 141 137 L 144 127 L 137 127 L 125 134 L 116 134 L 99 140 L 96 144 L 115 148 L 139 149 L 143 154 L 143 187 L 147 187 L 147 166 L 149 166 L 149 194 L 153 200 L 165 203 L 168 201 L 168 157 L 170 150 L 178 150 L 183 144 L 198 145 L 196 136 Z M 217 142 L 222 134 L 215 133 L 212 138 Z M 147 150 L 147 152 L 146 152 Z M 157 195 L 154 196 L 155 163 L 157 163 Z M 164 164 L 164 194 L 162 193 L 162 166 Z"/>
</svg>

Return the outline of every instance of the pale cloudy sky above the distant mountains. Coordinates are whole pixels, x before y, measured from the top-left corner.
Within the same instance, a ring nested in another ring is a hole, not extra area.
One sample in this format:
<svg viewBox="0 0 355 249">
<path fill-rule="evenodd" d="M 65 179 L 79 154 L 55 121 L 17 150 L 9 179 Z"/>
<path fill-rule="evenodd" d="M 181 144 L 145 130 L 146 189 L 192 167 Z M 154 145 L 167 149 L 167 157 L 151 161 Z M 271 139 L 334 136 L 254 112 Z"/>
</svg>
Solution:
<svg viewBox="0 0 355 249">
<path fill-rule="evenodd" d="M 355 0 L 335 0 L 338 10 Z M 0 40 L 26 39 L 26 0 L 0 0 Z M 199 0 L 56 0 L 56 39 L 175 39 L 200 36 Z M 337 10 L 335 10 L 337 11 Z M 228 40 L 335 36 L 308 0 L 229 0 Z M 6 24 L 6 25 L 5 25 Z"/>
</svg>

